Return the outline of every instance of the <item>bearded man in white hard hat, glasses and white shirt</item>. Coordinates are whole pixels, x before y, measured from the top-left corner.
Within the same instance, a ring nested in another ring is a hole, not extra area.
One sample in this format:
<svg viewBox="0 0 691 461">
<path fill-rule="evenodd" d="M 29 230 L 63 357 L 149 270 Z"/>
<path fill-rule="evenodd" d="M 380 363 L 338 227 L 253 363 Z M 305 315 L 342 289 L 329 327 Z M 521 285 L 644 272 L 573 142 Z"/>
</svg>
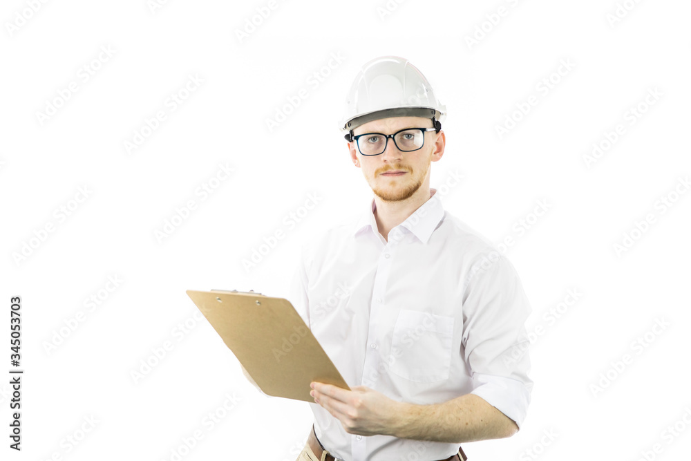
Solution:
<svg viewBox="0 0 691 461">
<path fill-rule="evenodd" d="M 356 77 L 341 125 L 374 192 L 303 247 L 290 301 L 352 389 L 312 383 L 298 461 L 465 460 L 527 413 L 530 313 L 513 265 L 442 207 L 446 108 L 406 59 Z"/>
</svg>

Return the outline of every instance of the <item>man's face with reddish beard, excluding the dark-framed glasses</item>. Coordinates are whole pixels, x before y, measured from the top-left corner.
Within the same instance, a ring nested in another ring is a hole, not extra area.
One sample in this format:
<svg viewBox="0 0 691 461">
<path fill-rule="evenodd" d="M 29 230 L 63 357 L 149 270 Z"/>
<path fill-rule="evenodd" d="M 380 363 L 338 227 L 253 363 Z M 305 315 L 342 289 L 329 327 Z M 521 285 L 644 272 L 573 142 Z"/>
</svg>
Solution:
<svg viewBox="0 0 691 461">
<path fill-rule="evenodd" d="M 353 135 L 362 133 L 392 134 L 406 128 L 429 128 L 432 120 L 424 117 L 390 117 L 372 120 L 358 126 Z M 378 156 L 363 156 L 357 142 L 349 142 L 350 157 L 362 169 L 365 179 L 375 195 L 386 202 L 406 200 L 424 187 L 429 189 L 430 162 L 436 162 L 444 153 L 444 131 L 427 131 L 425 141 L 417 151 L 399 151 L 392 138 L 386 150 Z M 396 172 L 396 173 L 395 173 Z"/>
</svg>

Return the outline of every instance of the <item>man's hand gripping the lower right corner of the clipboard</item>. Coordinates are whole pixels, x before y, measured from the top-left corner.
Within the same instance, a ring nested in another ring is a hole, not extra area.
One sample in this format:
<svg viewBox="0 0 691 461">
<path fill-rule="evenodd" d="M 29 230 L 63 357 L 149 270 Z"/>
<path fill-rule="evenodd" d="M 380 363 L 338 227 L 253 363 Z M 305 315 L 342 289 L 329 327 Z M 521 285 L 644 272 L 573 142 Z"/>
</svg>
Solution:
<svg viewBox="0 0 691 461">
<path fill-rule="evenodd" d="M 345 432 L 359 435 L 393 435 L 400 419 L 401 402 L 366 386 L 347 389 L 312 382 L 314 402 L 329 411 Z"/>
</svg>

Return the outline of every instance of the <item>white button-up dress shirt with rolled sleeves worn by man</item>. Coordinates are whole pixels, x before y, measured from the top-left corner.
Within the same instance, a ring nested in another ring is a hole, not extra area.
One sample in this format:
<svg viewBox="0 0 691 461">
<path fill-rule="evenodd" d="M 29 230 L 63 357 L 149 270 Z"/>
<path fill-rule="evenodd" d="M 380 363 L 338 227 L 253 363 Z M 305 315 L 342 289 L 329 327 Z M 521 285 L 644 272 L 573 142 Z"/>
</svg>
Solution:
<svg viewBox="0 0 691 461">
<path fill-rule="evenodd" d="M 411 404 L 473 393 L 520 427 L 533 387 L 530 305 L 513 265 L 436 192 L 388 241 L 372 198 L 361 216 L 303 245 L 289 301 L 349 386 Z M 310 406 L 317 438 L 341 460 L 442 460 L 460 446 L 353 435 Z"/>
</svg>

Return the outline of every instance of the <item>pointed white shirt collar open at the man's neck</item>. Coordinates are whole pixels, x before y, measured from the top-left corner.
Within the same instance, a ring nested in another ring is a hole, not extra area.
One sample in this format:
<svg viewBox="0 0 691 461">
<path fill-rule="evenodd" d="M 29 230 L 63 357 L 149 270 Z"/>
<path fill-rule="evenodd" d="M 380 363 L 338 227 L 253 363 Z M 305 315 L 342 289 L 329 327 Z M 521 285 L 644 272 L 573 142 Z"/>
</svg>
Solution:
<svg viewBox="0 0 691 461">
<path fill-rule="evenodd" d="M 437 194 L 437 189 L 430 187 L 430 193 L 432 196 L 400 224 L 401 227 L 412 232 L 422 243 L 427 243 L 439 221 L 444 217 L 444 207 L 442 207 L 442 199 Z M 375 220 L 376 209 L 377 203 L 372 198 L 368 210 L 361 214 L 355 225 L 354 235 L 359 234 L 367 227 L 370 227 L 372 232 L 379 232 L 377 220 Z"/>
</svg>

